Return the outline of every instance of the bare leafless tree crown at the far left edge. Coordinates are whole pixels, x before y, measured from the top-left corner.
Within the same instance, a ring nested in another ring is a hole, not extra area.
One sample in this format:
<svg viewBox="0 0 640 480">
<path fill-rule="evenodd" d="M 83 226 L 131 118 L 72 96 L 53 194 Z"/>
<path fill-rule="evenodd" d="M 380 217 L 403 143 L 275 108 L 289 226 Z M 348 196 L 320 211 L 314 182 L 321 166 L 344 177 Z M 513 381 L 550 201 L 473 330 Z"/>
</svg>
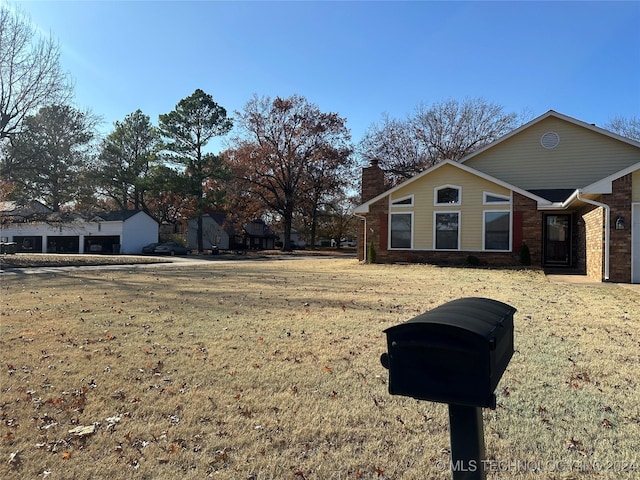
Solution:
<svg viewBox="0 0 640 480">
<path fill-rule="evenodd" d="M 65 103 L 69 77 L 60 67 L 60 46 L 37 34 L 30 20 L 0 5 L 0 141 L 19 132 L 41 107 Z"/>
</svg>

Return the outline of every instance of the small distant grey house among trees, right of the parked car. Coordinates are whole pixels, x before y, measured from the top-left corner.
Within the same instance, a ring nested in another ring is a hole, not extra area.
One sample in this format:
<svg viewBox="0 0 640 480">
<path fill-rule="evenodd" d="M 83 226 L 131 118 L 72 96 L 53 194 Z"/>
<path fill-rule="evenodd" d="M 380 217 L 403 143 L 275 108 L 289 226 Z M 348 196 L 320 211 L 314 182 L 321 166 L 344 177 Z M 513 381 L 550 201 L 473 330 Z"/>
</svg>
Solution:
<svg viewBox="0 0 640 480">
<path fill-rule="evenodd" d="M 198 224 L 189 219 L 187 240 L 191 248 L 196 248 Z M 276 235 L 263 220 L 253 220 L 242 230 L 236 231 L 226 222 L 224 213 L 207 213 L 202 217 L 202 247 L 207 250 L 217 246 L 220 250 L 271 250 L 275 246 Z"/>
</svg>

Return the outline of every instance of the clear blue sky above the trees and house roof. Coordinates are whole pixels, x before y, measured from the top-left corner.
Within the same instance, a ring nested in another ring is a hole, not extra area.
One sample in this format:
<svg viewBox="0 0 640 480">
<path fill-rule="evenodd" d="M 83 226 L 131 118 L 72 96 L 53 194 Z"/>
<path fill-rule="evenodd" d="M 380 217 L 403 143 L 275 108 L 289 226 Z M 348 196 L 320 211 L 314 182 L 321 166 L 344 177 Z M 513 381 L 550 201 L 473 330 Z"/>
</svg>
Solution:
<svg viewBox="0 0 640 480">
<path fill-rule="evenodd" d="M 448 99 L 600 126 L 640 116 L 639 1 L 12 5 L 59 40 L 103 132 L 138 108 L 157 124 L 196 88 L 230 115 L 254 93 L 303 95 L 345 117 L 354 142 L 383 113 Z"/>
</svg>

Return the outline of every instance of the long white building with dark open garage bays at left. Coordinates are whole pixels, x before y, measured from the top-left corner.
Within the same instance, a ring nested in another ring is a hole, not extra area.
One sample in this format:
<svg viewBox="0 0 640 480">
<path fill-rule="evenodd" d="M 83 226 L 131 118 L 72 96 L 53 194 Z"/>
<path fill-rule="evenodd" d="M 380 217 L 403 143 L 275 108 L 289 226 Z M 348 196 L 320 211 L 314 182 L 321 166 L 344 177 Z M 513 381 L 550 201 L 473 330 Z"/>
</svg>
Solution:
<svg viewBox="0 0 640 480">
<path fill-rule="evenodd" d="M 140 253 L 158 241 L 158 223 L 141 210 L 96 214 L 85 219 L 77 214 L 33 211 L 2 202 L 0 237 L 17 243 L 23 253 Z"/>
</svg>

